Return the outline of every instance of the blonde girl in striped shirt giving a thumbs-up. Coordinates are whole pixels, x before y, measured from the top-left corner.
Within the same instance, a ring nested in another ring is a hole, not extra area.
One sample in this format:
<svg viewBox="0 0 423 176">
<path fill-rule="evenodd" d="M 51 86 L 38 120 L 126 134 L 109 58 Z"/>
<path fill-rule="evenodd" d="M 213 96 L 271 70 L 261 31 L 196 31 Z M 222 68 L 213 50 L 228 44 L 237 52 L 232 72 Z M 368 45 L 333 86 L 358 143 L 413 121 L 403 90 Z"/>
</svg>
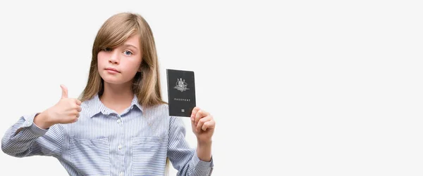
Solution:
<svg viewBox="0 0 423 176">
<path fill-rule="evenodd" d="M 78 99 L 61 85 L 57 104 L 21 117 L 1 140 L 15 157 L 54 156 L 69 175 L 211 175 L 215 122 L 192 110 L 197 148 L 161 100 L 159 62 L 149 25 L 136 13 L 106 20 L 92 47 L 87 86 Z M 47 169 L 47 168 L 46 168 Z"/>
</svg>

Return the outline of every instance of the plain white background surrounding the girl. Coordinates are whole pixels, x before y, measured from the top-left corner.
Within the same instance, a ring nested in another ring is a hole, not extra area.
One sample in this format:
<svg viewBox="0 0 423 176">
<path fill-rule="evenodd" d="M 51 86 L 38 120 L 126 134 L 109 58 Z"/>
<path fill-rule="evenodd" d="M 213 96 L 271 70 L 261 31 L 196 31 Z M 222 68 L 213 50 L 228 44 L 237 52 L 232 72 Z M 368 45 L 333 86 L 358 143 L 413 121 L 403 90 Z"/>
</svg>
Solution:
<svg viewBox="0 0 423 176">
<path fill-rule="evenodd" d="M 423 175 L 418 2 L 1 1 L 1 137 L 61 83 L 78 97 L 97 30 L 130 11 L 154 32 L 165 100 L 166 69 L 195 71 L 213 175 Z M 0 175 L 67 173 L 0 153 Z"/>
</svg>

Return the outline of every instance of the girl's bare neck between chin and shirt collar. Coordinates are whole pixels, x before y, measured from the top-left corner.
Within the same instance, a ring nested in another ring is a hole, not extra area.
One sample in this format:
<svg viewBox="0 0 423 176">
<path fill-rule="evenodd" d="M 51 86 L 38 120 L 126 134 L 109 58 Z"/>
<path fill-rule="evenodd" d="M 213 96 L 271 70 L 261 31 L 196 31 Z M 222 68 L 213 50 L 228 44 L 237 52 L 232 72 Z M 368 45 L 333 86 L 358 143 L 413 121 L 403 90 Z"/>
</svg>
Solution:
<svg viewBox="0 0 423 176">
<path fill-rule="evenodd" d="M 104 82 L 104 91 L 100 101 L 110 109 L 121 111 L 130 106 L 134 93 L 131 88 L 132 82 L 112 84 Z"/>
</svg>

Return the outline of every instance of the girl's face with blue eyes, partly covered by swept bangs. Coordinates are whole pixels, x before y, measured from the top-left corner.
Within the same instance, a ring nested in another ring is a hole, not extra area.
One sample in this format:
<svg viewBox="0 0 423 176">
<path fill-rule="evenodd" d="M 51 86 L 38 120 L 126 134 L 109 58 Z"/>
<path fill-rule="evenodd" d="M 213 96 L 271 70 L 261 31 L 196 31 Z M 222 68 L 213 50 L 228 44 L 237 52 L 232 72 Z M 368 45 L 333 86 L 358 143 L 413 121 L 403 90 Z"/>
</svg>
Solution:
<svg viewBox="0 0 423 176">
<path fill-rule="evenodd" d="M 132 36 L 121 46 L 106 48 L 98 53 L 99 74 L 107 83 L 132 82 L 140 68 L 141 57 L 140 36 Z"/>
</svg>

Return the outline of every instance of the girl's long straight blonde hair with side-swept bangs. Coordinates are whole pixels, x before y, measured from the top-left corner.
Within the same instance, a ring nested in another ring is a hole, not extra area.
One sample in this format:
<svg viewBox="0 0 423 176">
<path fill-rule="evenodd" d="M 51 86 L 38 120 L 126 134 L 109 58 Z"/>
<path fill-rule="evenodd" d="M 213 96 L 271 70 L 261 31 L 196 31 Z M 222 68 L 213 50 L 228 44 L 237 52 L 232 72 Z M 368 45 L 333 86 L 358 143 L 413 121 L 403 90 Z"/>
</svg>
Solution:
<svg viewBox="0 0 423 176">
<path fill-rule="evenodd" d="M 79 97 L 81 102 L 90 100 L 97 93 L 101 96 L 104 91 L 104 80 L 97 67 L 97 55 L 100 50 L 119 46 L 136 34 L 140 36 L 142 62 L 140 72 L 137 72 L 133 79 L 133 93 L 142 107 L 167 104 L 161 100 L 159 62 L 152 29 L 137 13 L 118 13 L 107 19 L 100 27 L 92 46 L 87 85 Z M 166 158 L 166 175 L 168 175 L 169 163 L 169 159 Z"/>
</svg>

